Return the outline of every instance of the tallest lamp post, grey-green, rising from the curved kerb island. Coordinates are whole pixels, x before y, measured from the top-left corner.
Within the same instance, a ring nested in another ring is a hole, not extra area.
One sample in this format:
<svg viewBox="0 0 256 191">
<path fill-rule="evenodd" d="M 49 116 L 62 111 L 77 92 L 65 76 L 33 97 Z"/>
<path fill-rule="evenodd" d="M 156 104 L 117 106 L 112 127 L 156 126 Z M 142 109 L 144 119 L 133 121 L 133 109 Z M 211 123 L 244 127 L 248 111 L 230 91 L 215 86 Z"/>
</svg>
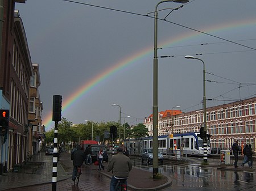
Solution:
<svg viewBox="0 0 256 191">
<path fill-rule="evenodd" d="M 186 0 L 165 0 L 155 6 L 153 61 L 153 179 L 158 174 L 158 6 L 164 2 L 187 3 Z"/>
</svg>

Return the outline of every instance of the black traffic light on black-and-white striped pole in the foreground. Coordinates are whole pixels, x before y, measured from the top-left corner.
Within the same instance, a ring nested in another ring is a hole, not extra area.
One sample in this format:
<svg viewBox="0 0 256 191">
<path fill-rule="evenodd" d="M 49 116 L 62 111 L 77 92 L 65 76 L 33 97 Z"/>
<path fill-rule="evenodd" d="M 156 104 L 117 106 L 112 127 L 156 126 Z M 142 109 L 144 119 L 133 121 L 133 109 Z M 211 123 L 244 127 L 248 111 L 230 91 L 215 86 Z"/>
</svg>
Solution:
<svg viewBox="0 0 256 191">
<path fill-rule="evenodd" d="M 58 164 L 58 122 L 61 121 L 61 95 L 53 96 L 52 121 L 55 121 L 54 149 L 52 159 L 52 191 L 57 190 L 57 164 Z"/>
</svg>

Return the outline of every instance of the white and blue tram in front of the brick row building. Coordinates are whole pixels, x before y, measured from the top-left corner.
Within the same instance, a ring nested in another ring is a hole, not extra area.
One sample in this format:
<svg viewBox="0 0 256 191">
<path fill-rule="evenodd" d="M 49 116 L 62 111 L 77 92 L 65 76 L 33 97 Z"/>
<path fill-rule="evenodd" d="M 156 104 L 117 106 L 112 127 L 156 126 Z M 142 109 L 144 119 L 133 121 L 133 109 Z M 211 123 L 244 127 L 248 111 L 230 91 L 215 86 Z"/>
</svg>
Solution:
<svg viewBox="0 0 256 191">
<path fill-rule="evenodd" d="M 207 155 L 211 152 L 209 137 L 207 135 Z M 125 142 L 125 145 L 130 149 L 131 154 L 139 155 L 142 148 L 153 147 L 153 137 L 130 139 L 129 143 Z M 203 139 L 200 138 L 200 133 L 179 133 L 173 134 L 172 137 L 161 135 L 158 137 L 158 148 L 163 153 L 182 149 L 187 155 L 204 155 Z"/>
</svg>

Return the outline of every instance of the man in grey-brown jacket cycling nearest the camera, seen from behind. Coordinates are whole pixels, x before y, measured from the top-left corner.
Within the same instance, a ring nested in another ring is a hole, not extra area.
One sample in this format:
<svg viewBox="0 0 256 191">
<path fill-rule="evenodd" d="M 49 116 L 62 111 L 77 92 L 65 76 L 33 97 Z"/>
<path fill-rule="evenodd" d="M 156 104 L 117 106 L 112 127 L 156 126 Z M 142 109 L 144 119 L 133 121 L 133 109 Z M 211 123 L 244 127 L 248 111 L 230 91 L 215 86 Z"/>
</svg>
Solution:
<svg viewBox="0 0 256 191">
<path fill-rule="evenodd" d="M 119 179 L 122 179 L 127 184 L 126 180 L 132 167 L 133 164 L 130 158 L 123 154 L 123 149 L 117 148 L 117 155 L 112 156 L 108 164 L 108 172 L 112 171 L 110 191 L 115 191 Z"/>
</svg>

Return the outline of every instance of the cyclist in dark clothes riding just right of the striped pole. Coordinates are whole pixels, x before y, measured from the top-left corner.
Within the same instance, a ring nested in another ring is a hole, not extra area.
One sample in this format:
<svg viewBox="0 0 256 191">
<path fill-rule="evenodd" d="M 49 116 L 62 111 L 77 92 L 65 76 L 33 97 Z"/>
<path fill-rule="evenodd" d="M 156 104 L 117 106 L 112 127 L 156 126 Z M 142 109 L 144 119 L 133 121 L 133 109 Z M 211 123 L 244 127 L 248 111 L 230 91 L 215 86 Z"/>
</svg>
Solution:
<svg viewBox="0 0 256 191">
<path fill-rule="evenodd" d="M 71 153 L 71 160 L 73 160 L 73 174 L 72 180 L 76 180 L 77 167 L 81 167 L 85 160 L 85 153 L 81 150 L 81 146 L 77 145 L 76 150 Z"/>
</svg>

